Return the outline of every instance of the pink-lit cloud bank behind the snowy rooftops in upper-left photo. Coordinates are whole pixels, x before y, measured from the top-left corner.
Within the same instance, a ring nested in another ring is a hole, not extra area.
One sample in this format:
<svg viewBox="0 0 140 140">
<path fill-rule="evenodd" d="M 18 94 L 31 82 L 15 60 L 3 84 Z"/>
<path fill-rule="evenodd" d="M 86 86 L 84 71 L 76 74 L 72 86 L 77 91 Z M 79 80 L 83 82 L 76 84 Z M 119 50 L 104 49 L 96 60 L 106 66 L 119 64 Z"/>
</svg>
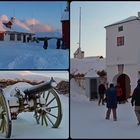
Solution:
<svg viewBox="0 0 140 140">
<path fill-rule="evenodd" d="M 9 18 L 6 15 L 0 15 L 0 31 L 5 31 L 3 28 L 3 22 L 9 21 Z M 15 20 L 15 24 L 32 32 L 53 32 L 53 28 L 46 24 L 42 23 L 38 19 L 30 18 L 26 20 Z"/>
</svg>

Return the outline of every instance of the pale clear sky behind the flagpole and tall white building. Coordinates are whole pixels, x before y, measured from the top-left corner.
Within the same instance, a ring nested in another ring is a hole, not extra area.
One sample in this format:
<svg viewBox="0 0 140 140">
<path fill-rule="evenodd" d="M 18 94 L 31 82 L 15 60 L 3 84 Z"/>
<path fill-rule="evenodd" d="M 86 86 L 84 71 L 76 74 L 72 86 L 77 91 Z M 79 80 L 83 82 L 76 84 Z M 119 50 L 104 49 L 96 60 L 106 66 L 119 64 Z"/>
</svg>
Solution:
<svg viewBox="0 0 140 140">
<path fill-rule="evenodd" d="M 71 57 L 79 47 L 79 11 L 81 7 L 81 49 L 85 56 L 106 57 L 105 26 L 130 16 L 137 16 L 140 11 L 138 1 L 89 1 L 72 2 L 70 6 Z"/>
</svg>

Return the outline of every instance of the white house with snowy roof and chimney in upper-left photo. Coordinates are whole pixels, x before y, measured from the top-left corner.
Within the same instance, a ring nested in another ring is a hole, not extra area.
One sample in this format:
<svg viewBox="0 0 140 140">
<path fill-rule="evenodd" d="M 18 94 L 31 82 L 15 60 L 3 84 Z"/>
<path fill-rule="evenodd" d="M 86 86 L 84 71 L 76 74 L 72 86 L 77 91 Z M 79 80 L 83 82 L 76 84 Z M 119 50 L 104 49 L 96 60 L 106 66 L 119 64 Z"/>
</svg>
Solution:
<svg viewBox="0 0 140 140">
<path fill-rule="evenodd" d="M 32 40 L 34 33 L 17 24 L 15 24 L 15 17 L 10 21 L 1 23 L 0 25 L 0 42 L 29 42 Z"/>
</svg>

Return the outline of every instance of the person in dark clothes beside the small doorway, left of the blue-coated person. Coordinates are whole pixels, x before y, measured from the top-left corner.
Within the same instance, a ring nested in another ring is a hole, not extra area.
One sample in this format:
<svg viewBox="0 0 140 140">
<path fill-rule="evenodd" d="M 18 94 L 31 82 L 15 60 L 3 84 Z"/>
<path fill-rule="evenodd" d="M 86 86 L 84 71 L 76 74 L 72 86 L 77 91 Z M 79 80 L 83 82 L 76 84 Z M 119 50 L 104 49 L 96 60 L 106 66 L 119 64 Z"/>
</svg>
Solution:
<svg viewBox="0 0 140 140">
<path fill-rule="evenodd" d="M 106 88 L 104 84 L 100 84 L 98 87 L 98 92 L 99 92 L 99 102 L 98 105 L 102 102 L 102 105 L 104 105 L 104 95 L 106 92 Z"/>
</svg>

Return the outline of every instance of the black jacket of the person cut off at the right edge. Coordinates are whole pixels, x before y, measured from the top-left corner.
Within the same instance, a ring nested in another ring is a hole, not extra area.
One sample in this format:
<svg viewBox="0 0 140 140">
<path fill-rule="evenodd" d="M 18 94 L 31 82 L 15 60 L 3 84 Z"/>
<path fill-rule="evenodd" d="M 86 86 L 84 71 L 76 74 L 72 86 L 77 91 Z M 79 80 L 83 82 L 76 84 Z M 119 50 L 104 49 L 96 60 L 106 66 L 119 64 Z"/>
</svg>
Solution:
<svg viewBox="0 0 140 140">
<path fill-rule="evenodd" d="M 135 106 L 140 106 L 140 84 L 133 91 L 131 103 L 132 105 L 135 103 Z"/>
</svg>

